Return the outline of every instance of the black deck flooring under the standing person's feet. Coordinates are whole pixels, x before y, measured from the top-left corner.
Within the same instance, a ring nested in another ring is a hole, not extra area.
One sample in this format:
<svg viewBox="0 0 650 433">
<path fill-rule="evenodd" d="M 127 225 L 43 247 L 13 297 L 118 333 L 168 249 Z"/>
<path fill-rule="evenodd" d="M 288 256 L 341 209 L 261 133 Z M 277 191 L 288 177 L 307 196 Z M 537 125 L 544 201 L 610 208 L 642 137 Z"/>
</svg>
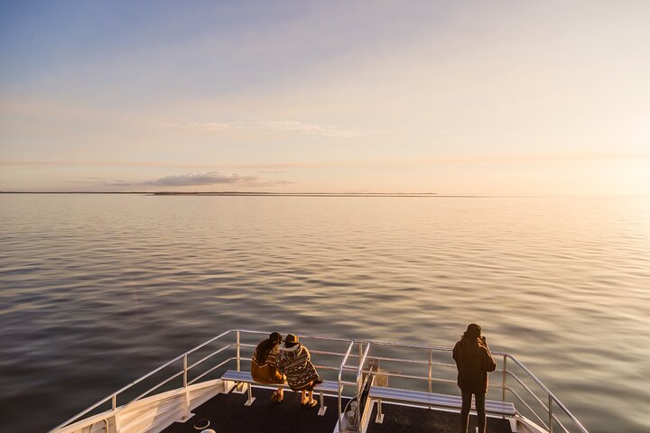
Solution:
<svg viewBox="0 0 650 433">
<path fill-rule="evenodd" d="M 383 403 L 384 422 L 376 424 L 376 407 L 368 423 L 367 433 L 458 433 L 460 412 L 412 408 Z M 469 432 L 476 431 L 477 417 L 469 416 Z M 507 419 L 487 417 L 487 433 L 512 433 Z"/>
</svg>

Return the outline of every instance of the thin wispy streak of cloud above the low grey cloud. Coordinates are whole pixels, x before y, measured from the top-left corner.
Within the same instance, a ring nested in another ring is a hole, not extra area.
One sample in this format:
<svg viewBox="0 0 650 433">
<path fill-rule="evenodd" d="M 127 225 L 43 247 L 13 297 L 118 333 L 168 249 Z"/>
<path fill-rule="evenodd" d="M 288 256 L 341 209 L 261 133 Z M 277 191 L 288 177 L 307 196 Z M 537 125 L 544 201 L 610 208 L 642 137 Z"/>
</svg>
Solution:
<svg viewBox="0 0 650 433">
<path fill-rule="evenodd" d="M 283 121 L 264 121 L 264 122 L 207 122 L 207 123 L 189 123 L 189 124 L 166 124 L 168 128 L 196 129 L 202 131 L 290 131 L 299 134 L 311 135 L 314 137 L 335 137 L 335 138 L 355 138 L 363 137 L 370 134 L 376 134 L 377 131 L 364 131 L 341 129 L 336 126 L 322 124 L 307 124 L 291 120 Z"/>
</svg>

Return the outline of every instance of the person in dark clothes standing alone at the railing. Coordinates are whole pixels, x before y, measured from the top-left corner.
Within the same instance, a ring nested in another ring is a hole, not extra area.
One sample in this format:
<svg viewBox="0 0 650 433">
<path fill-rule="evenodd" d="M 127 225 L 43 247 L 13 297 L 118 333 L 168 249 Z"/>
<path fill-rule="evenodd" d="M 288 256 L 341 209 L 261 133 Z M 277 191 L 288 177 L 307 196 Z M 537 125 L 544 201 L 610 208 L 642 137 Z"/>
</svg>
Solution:
<svg viewBox="0 0 650 433">
<path fill-rule="evenodd" d="M 478 432 L 486 431 L 485 397 L 487 393 L 487 373 L 497 369 L 492 354 L 487 347 L 485 336 L 481 336 L 481 327 L 472 323 L 467 331 L 454 345 L 453 358 L 458 368 L 458 385 L 462 393 L 460 410 L 460 432 L 467 433 L 471 397 L 474 394 L 478 414 Z"/>
</svg>

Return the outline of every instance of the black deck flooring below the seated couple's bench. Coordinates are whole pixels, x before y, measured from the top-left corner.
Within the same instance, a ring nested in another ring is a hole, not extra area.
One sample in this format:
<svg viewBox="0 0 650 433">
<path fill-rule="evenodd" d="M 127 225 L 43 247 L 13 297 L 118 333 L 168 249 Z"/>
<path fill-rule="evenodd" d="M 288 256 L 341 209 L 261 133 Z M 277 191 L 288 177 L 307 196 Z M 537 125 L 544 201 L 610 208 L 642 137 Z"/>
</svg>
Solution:
<svg viewBox="0 0 650 433">
<path fill-rule="evenodd" d="M 325 397 L 328 407 L 325 415 L 317 415 L 319 407 L 307 409 L 300 405 L 300 393 L 284 391 L 284 401 L 276 403 L 270 400 L 273 390 L 253 388 L 255 401 L 251 406 L 244 406 L 247 394 L 217 394 L 209 401 L 193 410 L 194 415 L 187 422 L 173 423 L 163 433 L 197 433 L 194 424 L 200 419 L 209 419 L 210 426 L 217 433 L 292 433 L 313 432 L 332 433 L 339 416 L 339 399 Z M 314 393 L 318 400 L 318 394 Z M 344 402 L 345 404 L 345 402 Z"/>
</svg>

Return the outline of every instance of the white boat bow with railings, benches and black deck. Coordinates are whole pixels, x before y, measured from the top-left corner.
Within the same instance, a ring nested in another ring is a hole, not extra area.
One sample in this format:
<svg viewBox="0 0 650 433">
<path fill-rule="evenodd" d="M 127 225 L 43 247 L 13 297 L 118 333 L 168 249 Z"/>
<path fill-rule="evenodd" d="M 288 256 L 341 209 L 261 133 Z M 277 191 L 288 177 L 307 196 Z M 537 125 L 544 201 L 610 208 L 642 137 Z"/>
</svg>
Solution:
<svg viewBox="0 0 650 433">
<path fill-rule="evenodd" d="M 251 379 L 250 357 L 268 334 L 245 329 L 223 332 L 82 410 L 50 433 L 458 429 L 461 401 L 458 390 L 454 392 L 456 364 L 450 363 L 450 347 L 300 335 L 325 379 L 314 390 L 318 410 L 307 410 L 289 397 L 283 403 L 270 401 L 274 385 Z M 498 366 L 490 375 L 493 383 L 488 390 L 488 398 L 497 394 L 497 399 L 486 402 L 490 433 L 588 433 L 513 355 L 492 355 Z"/>
</svg>

